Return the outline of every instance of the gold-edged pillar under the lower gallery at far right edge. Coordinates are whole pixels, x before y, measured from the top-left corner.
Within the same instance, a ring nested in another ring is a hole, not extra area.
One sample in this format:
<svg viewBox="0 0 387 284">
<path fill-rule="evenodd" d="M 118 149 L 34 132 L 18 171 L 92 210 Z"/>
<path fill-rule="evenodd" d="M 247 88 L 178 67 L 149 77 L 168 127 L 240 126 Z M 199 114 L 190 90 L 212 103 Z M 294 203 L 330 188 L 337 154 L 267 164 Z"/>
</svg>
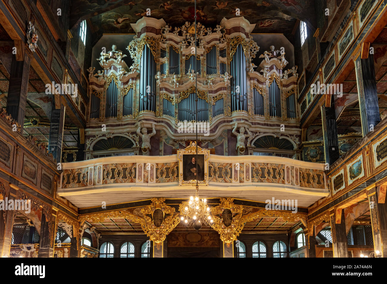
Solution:
<svg viewBox="0 0 387 284">
<path fill-rule="evenodd" d="M 368 190 L 375 255 L 387 257 L 387 203 L 378 202 L 377 188 Z M 377 253 L 379 251 L 379 253 Z"/>
</svg>

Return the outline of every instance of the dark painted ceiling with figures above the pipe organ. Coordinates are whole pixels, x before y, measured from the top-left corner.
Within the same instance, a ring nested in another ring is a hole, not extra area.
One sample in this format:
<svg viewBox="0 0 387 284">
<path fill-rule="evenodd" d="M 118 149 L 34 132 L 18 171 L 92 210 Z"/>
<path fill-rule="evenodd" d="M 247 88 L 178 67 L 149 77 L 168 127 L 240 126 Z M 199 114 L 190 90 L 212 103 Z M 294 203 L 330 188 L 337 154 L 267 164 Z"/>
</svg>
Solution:
<svg viewBox="0 0 387 284">
<path fill-rule="evenodd" d="M 163 18 L 172 26 L 195 20 L 194 0 L 164 1 L 74 0 L 72 24 L 90 17 L 98 34 L 133 33 L 130 23 L 145 16 L 147 8 L 151 17 Z M 314 0 L 197 0 L 197 21 L 211 27 L 223 17 L 236 17 L 237 8 L 240 16 L 256 24 L 253 33 L 291 34 L 297 19 L 315 26 Z"/>
</svg>

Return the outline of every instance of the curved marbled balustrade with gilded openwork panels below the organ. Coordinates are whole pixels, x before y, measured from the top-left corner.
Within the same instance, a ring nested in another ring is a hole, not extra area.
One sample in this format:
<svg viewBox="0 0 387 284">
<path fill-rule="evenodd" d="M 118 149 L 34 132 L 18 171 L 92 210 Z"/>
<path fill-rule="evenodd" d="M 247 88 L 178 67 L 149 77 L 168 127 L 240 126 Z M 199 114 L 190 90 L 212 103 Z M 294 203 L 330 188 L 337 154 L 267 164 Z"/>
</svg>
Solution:
<svg viewBox="0 0 387 284">
<path fill-rule="evenodd" d="M 203 151 L 208 151 L 204 150 Z M 191 154 L 192 155 L 192 154 Z M 180 184 L 185 163 L 170 156 L 115 156 L 63 163 L 60 188 L 97 187 L 105 184 L 156 186 Z M 185 158 L 184 158 L 185 159 Z M 160 162 L 166 160 L 165 162 Z M 130 162 L 129 162 L 130 161 Z M 181 164 L 179 168 L 179 162 Z M 88 165 L 89 164 L 89 165 Z M 282 184 L 293 188 L 327 189 L 324 165 L 282 157 L 217 156 L 200 160 L 205 185 Z M 208 170 L 207 170 L 208 168 Z M 229 186 L 227 185 L 227 186 Z"/>
</svg>

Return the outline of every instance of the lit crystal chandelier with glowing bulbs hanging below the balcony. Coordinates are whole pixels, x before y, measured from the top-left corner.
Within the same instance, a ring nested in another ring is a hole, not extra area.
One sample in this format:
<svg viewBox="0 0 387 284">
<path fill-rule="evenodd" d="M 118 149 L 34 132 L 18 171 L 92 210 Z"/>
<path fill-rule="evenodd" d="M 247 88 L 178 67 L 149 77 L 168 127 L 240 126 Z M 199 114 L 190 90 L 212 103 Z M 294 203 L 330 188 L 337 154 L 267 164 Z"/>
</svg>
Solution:
<svg viewBox="0 0 387 284">
<path fill-rule="evenodd" d="M 180 217 L 182 222 L 187 226 L 192 224 L 195 230 L 199 230 L 206 223 L 211 226 L 214 222 L 207 200 L 199 197 L 199 187 L 197 185 L 195 197 L 191 196 L 188 201 L 180 203 L 179 211 L 182 215 Z"/>
</svg>

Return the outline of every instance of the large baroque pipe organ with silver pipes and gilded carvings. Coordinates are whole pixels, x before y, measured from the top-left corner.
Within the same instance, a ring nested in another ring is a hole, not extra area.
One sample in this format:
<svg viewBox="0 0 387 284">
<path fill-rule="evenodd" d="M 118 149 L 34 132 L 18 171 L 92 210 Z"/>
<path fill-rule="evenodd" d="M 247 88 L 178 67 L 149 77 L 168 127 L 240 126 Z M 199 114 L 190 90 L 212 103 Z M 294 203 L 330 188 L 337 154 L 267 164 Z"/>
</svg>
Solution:
<svg viewBox="0 0 387 284">
<path fill-rule="evenodd" d="M 113 45 L 98 58 L 101 70 L 89 80 L 87 123 L 135 133 L 139 121 L 146 127 L 153 121 L 156 129 L 160 123 L 170 127 L 170 139 L 177 139 L 184 121 L 208 122 L 211 133 L 222 124 L 232 129 L 234 121 L 260 133 L 260 126 L 296 123 L 297 68 L 285 71 L 285 54 L 274 46 L 259 52 L 249 35 L 254 26 L 243 17 L 224 18 L 213 30 L 198 23 L 195 31 L 193 23 L 171 29 L 163 19 L 143 17 L 132 24 L 136 34 L 126 52 Z M 86 131 L 86 138 L 92 135 Z"/>
</svg>

